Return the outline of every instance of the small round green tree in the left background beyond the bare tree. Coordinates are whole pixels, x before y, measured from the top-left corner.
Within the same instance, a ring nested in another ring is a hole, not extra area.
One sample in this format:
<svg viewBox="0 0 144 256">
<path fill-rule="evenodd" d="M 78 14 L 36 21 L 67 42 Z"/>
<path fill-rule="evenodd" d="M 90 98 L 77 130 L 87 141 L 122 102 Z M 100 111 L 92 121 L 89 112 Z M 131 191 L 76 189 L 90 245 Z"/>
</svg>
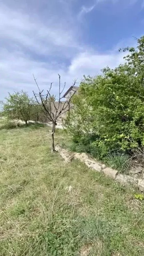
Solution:
<svg viewBox="0 0 144 256">
<path fill-rule="evenodd" d="M 20 119 L 25 121 L 30 120 L 32 105 L 31 98 L 27 92 L 21 90 L 13 94 L 9 93 L 9 96 L 5 98 L 6 103 L 3 103 L 3 110 L 8 119 Z"/>
</svg>

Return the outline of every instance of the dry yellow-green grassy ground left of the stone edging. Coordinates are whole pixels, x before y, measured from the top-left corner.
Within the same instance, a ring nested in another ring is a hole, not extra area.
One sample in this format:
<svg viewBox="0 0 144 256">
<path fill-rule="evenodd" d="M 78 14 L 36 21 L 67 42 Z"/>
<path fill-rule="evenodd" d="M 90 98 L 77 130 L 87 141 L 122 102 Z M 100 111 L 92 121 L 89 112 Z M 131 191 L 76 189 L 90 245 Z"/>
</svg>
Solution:
<svg viewBox="0 0 144 256">
<path fill-rule="evenodd" d="M 144 255 L 137 191 L 79 161 L 65 164 L 50 146 L 47 126 L 0 130 L 0 255 Z"/>
</svg>

